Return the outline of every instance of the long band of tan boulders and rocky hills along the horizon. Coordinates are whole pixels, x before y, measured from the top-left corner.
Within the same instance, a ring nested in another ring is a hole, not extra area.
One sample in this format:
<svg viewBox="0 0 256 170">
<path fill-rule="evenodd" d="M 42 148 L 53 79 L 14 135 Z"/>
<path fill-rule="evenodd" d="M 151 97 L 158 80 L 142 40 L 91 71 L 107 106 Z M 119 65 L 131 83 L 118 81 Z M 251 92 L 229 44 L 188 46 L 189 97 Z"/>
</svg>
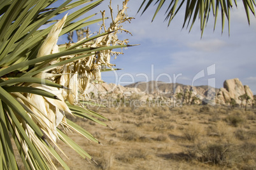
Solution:
<svg viewBox="0 0 256 170">
<path fill-rule="evenodd" d="M 216 89 L 210 86 L 188 86 L 183 84 L 171 84 L 165 82 L 137 82 L 128 86 L 117 84 L 96 84 L 91 86 L 88 95 L 91 98 L 111 98 L 113 100 L 180 100 L 183 103 L 200 104 L 202 101 L 218 105 L 245 105 L 246 101 L 241 100 L 241 95 L 247 95 L 248 105 L 252 105 L 253 93 L 249 86 L 243 86 L 242 82 L 236 79 L 229 79 L 224 82 L 224 88 Z"/>
</svg>

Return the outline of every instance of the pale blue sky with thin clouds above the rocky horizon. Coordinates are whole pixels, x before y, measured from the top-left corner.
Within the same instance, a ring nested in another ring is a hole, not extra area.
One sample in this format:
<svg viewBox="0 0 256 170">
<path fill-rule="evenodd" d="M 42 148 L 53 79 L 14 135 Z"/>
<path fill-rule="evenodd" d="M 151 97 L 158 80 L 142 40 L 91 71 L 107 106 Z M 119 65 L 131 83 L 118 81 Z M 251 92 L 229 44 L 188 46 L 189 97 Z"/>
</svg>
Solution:
<svg viewBox="0 0 256 170">
<path fill-rule="evenodd" d="M 95 10 L 108 11 L 108 4 L 106 0 Z M 122 1 L 112 1 L 114 10 L 117 4 L 122 6 Z M 210 18 L 202 39 L 199 20 L 188 33 L 187 29 L 181 29 L 184 13 L 180 11 L 167 28 L 164 11 L 151 22 L 156 7 L 152 6 L 141 16 L 140 13 L 137 15 L 140 4 L 138 0 L 130 0 L 128 4 L 128 15 L 136 19 L 124 24 L 124 29 L 132 32 L 132 36 L 125 33 L 119 35 L 119 39 L 128 38 L 129 44 L 140 45 L 125 49 L 124 55 L 111 60 L 117 68 L 124 70 L 104 72 L 103 81 L 125 85 L 159 80 L 199 86 L 208 85 L 209 79 L 215 79 L 215 84 L 210 85 L 221 88 L 226 79 L 237 77 L 256 94 L 256 19 L 250 15 L 249 27 L 241 1 L 238 1 L 238 9 L 234 7 L 231 11 L 230 37 L 227 21 L 224 33 L 221 32 L 219 13 L 215 32 L 214 20 Z M 94 25 L 91 30 L 98 26 Z M 61 37 L 60 41 L 65 38 Z M 205 76 L 197 79 L 199 72 L 204 72 Z"/>
</svg>

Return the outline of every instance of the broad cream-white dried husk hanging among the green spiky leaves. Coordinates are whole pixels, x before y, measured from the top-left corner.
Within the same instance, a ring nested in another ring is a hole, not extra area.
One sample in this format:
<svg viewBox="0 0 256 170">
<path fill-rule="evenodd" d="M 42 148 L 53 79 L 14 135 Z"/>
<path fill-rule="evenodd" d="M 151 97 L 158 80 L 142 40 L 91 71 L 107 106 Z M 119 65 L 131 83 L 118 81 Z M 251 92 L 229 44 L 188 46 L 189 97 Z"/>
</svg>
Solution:
<svg viewBox="0 0 256 170">
<path fill-rule="evenodd" d="M 43 42 L 41 48 L 39 49 L 37 55 L 38 58 L 41 56 L 50 55 L 50 53 L 57 53 L 57 51 L 53 51 L 53 49 L 56 47 L 58 48 L 57 40 L 67 16 L 68 15 L 65 15 L 62 20 L 53 25 L 52 29 L 50 30 L 48 36 L 45 39 L 45 42 Z M 50 76 L 52 75 L 43 72 L 35 75 L 34 77 L 39 77 L 43 80 L 48 79 Z M 59 139 L 59 136 L 57 134 L 57 126 L 59 126 L 61 121 L 65 121 L 65 114 L 73 115 L 68 105 L 64 101 L 64 98 L 61 95 L 59 88 L 46 86 L 43 83 L 25 84 L 24 86 L 48 91 L 48 93 L 56 96 L 57 99 L 31 93 L 25 95 L 25 98 L 22 98 L 20 95 L 18 95 L 18 93 L 16 93 L 17 100 L 20 100 L 24 104 L 26 103 L 27 107 L 29 107 L 29 109 L 31 110 L 31 113 L 35 115 L 33 116 L 33 119 L 38 124 L 39 128 L 41 128 L 41 130 L 46 134 L 46 136 L 48 136 L 48 138 L 50 138 L 51 141 L 56 143 L 57 139 Z M 43 145 L 41 141 L 36 140 L 36 137 L 34 136 L 34 131 L 32 129 L 29 129 L 27 131 L 27 135 L 30 136 L 30 138 L 35 139 L 34 142 L 38 142 L 36 143 L 36 145 Z M 46 150 L 42 149 L 41 152 L 43 152 L 44 155 L 48 155 Z"/>
</svg>

